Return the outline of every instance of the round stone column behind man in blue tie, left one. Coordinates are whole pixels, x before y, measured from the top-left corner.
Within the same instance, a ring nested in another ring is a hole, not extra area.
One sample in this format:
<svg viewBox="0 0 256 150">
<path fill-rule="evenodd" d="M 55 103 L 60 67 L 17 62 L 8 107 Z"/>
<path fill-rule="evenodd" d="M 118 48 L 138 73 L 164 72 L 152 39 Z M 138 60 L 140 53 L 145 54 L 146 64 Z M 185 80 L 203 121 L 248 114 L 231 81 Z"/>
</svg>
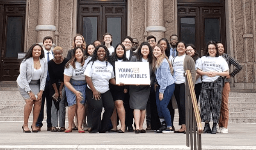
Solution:
<svg viewBox="0 0 256 150">
<path fill-rule="evenodd" d="M 37 43 L 42 43 L 45 36 L 51 36 L 54 39 L 56 26 L 55 20 L 55 0 L 39 0 L 39 11 L 37 21 Z"/>
</svg>

